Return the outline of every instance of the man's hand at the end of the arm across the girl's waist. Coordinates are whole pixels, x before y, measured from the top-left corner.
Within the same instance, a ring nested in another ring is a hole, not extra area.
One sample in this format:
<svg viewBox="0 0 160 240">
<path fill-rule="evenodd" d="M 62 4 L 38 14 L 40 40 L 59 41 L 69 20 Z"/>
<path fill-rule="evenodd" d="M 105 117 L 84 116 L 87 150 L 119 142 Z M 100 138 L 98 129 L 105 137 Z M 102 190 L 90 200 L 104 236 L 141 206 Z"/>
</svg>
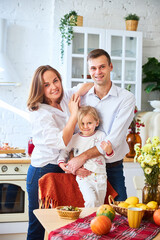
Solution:
<svg viewBox="0 0 160 240">
<path fill-rule="evenodd" d="M 78 157 L 74 157 L 72 158 L 68 163 L 67 163 L 67 167 L 68 170 L 72 173 L 72 174 L 76 174 L 76 171 L 83 166 L 83 164 L 85 163 L 85 161 L 83 161 L 83 159 L 80 157 L 80 155 Z"/>
</svg>

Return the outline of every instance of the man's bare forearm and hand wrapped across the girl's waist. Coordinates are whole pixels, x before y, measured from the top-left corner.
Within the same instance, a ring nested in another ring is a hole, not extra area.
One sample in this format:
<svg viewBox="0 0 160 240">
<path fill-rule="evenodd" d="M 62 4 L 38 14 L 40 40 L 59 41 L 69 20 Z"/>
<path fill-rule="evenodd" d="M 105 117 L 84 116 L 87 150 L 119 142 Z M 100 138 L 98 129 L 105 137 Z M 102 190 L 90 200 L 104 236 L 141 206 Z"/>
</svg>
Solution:
<svg viewBox="0 0 160 240">
<path fill-rule="evenodd" d="M 77 169 L 82 167 L 88 159 L 98 157 L 100 155 L 101 153 L 96 147 L 90 148 L 87 151 L 81 153 L 79 156 L 72 158 L 68 162 L 68 170 L 73 174 L 76 174 Z"/>
</svg>

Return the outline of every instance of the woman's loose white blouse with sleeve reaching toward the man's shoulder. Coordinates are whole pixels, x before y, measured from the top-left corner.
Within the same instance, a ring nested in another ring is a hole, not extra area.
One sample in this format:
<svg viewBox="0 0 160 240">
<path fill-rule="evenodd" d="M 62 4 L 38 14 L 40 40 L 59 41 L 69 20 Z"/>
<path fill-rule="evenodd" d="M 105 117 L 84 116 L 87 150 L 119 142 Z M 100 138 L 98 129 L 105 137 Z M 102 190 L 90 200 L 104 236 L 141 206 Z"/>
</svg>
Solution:
<svg viewBox="0 0 160 240">
<path fill-rule="evenodd" d="M 31 156 L 32 166 L 43 167 L 49 163 L 57 164 L 60 150 L 66 147 L 62 134 L 70 116 L 68 103 L 72 94 L 78 89 L 79 86 L 64 91 L 60 103 L 63 112 L 50 105 L 40 104 L 37 111 L 29 113 L 35 145 Z"/>
</svg>

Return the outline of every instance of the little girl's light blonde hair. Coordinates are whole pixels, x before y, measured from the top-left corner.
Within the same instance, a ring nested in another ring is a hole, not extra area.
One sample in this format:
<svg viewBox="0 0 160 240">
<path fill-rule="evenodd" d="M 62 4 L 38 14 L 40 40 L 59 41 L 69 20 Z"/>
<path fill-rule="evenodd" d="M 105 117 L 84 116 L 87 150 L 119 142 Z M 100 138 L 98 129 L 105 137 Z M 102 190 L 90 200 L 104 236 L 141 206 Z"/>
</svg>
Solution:
<svg viewBox="0 0 160 240">
<path fill-rule="evenodd" d="M 99 116 L 98 116 L 98 112 L 94 107 L 91 106 L 81 106 L 78 110 L 78 126 L 79 128 L 83 128 L 82 126 L 82 119 L 87 115 L 92 115 L 92 117 L 94 118 L 94 120 L 96 122 L 100 122 Z"/>
</svg>

